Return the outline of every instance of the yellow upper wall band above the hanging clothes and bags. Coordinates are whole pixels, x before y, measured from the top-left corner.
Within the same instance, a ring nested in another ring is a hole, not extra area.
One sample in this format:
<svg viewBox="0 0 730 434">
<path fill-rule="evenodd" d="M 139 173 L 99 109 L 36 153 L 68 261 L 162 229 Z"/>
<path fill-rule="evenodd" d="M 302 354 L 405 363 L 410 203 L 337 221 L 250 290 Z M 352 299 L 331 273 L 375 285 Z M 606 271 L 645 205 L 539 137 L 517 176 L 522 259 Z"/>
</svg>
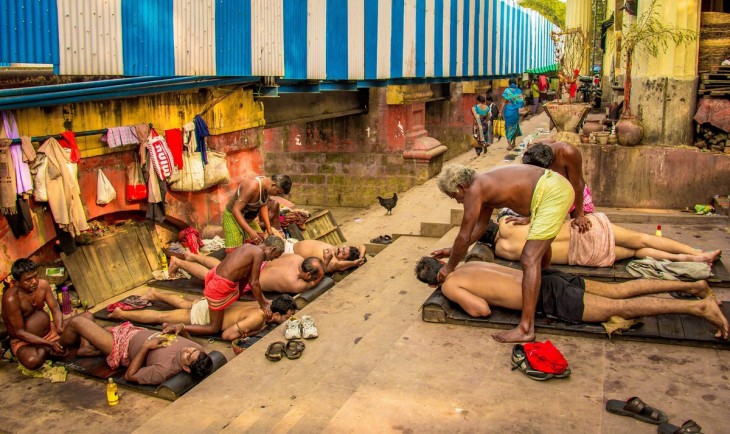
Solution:
<svg viewBox="0 0 730 434">
<path fill-rule="evenodd" d="M 227 96 L 226 96 L 227 95 Z M 263 104 L 254 101 L 249 89 L 195 89 L 135 98 L 92 101 L 53 107 L 14 110 L 21 135 L 45 136 L 65 130 L 90 131 L 110 127 L 152 123 L 158 133 L 182 128 L 220 97 L 224 97 L 202 115 L 210 133 L 219 135 L 263 126 Z M 78 137 L 81 157 L 112 153 L 101 135 Z"/>
</svg>

